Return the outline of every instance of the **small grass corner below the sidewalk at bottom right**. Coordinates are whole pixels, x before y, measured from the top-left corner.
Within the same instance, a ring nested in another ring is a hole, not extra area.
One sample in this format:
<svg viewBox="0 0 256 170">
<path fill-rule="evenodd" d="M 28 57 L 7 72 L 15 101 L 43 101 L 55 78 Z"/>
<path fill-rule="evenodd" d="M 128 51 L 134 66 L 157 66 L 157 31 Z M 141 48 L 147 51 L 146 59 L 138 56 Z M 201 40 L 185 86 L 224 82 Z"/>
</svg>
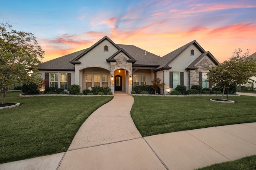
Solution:
<svg viewBox="0 0 256 170">
<path fill-rule="evenodd" d="M 220 164 L 213 164 L 198 170 L 255 170 L 256 169 L 256 155 L 247 156 L 238 160 L 223 162 Z"/>
</svg>

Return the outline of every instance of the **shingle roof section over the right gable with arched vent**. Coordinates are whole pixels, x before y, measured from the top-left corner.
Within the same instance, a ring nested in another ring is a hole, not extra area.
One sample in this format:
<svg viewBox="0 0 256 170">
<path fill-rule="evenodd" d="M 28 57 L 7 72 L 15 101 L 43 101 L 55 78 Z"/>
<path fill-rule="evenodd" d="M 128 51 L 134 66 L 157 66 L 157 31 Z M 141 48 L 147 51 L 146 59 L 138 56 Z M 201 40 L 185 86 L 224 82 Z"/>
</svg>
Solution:
<svg viewBox="0 0 256 170">
<path fill-rule="evenodd" d="M 161 60 L 160 60 L 160 63 L 161 65 L 157 68 L 157 69 L 161 69 L 161 68 L 164 68 L 164 67 L 168 67 L 168 65 L 176 58 L 178 57 L 183 51 L 185 51 L 185 49 L 187 49 L 191 44 L 194 44 L 197 49 L 201 52 L 201 53 L 204 53 L 204 49 L 198 44 L 198 42 L 196 42 L 196 40 L 190 42 L 190 43 L 187 43 L 186 45 L 183 45 L 182 47 L 164 55 Z"/>
</svg>

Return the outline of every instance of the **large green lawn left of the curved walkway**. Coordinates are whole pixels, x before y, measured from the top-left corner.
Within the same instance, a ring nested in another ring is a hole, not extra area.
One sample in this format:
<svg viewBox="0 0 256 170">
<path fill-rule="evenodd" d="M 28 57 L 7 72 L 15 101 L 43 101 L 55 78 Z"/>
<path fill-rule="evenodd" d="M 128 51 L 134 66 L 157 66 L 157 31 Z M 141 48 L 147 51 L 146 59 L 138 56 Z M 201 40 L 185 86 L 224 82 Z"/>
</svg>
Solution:
<svg viewBox="0 0 256 170">
<path fill-rule="evenodd" d="M 64 152 L 82 123 L 113 97 L 18 97 L 8 92 L 0 110 L 0 163 Z M 2 99 L 2 94 L 1 99 Z M 2 100 L 0 100 L 2 101 Z"/>
</svg>

